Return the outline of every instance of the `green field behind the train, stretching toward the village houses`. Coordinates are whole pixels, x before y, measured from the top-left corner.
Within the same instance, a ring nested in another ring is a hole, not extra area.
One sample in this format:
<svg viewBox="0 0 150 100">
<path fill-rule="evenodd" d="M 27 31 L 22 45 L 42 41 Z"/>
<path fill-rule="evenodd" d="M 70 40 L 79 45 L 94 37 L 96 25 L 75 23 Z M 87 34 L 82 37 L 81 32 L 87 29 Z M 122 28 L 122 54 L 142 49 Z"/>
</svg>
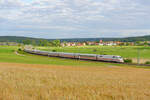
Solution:
<svg viewBox="0 0 150 100">
<path fill-rule="evenodd" d="M 88 53 L 88 54 L 107 54 L 120 55 L 123 58 L 131 58 L 134 62 L 137 57 L 141 58 L 141 63 L 150 61 L 150 47 L 144 46 L 84 46 L 84 47 L 37 47 L 46 51 Z"/>
</svg>

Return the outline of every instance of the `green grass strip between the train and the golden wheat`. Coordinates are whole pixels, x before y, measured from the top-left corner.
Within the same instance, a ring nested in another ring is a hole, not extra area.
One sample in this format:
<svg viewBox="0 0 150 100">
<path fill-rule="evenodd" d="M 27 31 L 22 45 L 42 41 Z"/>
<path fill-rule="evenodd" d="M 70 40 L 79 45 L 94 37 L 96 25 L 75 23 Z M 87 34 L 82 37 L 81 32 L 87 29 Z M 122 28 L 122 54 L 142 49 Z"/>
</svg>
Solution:
<svg viewBox="0 0 150 100">
<path fill-rule="evenodd" d="M 25 64 L 48 64 L 48 65 L 64 65 L 64 66 L 127 67 L 127 65 L 117 64 L 117 63 L 112 64 L 112 63 L 96 62 L 96 61 L 80 61 L 75 59 L 63 59 L 63 58 L 56 58 L 56 57 L 32 55 L 22 51 L 19 51 L 21 55 L 17 55 L 15 53 L 15 50 L 18 50 L 18 47 L 12 47 L 12 46 L 0 47 L 0 62 L 25 63 Z M 141 68 L 141 66 L 132 66 L 132 67 Z M 149 68 L 149 67 L 142 67 L 142 68 Z"/>
</svg>

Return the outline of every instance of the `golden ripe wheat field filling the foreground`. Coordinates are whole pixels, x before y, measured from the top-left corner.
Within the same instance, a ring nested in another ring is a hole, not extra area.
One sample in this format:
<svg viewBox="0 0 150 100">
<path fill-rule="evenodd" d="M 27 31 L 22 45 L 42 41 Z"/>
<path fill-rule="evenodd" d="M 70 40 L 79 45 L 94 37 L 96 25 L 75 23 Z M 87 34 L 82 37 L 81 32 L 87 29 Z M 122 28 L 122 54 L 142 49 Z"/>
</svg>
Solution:
<svg viewBox="0 0 150 100">
<path fill-rule="evenodd" d="M 150 100 L 150 69 L 0 63 L 0 100 Z"/>
</svg>

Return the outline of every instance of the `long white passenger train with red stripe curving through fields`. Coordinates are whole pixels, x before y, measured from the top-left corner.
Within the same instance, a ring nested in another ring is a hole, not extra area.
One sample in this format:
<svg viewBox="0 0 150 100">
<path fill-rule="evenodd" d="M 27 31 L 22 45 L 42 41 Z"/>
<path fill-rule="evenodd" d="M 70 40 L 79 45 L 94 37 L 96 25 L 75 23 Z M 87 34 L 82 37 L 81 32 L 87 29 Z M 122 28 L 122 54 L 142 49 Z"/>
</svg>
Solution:
<svg viewBox="0 0 150 100">
<path fill-rule="evenodd" d="M 95 61 L 117 62 L 117 63 L 124 62 L 121 56 L 115 56 L 115 55 L 48 52 L 48 51 L 29 50 L 29 49 L 24 49 L 24 51 L 27 53 L 31 53 L 31 54 L 43 55 L 43 56 L 49 56 L 49 57 L 62 57 L 62 58 L 70 58 L 70 59 L 95 60 Z"/>
</svg>

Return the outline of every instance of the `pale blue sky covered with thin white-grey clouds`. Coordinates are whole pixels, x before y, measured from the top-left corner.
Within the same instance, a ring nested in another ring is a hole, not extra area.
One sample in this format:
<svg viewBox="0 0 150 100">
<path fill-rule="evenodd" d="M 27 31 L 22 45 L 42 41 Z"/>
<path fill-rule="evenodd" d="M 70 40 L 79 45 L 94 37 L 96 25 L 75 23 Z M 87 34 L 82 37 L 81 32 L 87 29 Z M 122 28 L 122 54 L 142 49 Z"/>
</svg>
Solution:
<svg viewBox="0 0 150 100">
<path fill-rule="evenodd" d="M 0 0 L 0 36 L 150 35 L 150 0 Z"/>
</svg>

